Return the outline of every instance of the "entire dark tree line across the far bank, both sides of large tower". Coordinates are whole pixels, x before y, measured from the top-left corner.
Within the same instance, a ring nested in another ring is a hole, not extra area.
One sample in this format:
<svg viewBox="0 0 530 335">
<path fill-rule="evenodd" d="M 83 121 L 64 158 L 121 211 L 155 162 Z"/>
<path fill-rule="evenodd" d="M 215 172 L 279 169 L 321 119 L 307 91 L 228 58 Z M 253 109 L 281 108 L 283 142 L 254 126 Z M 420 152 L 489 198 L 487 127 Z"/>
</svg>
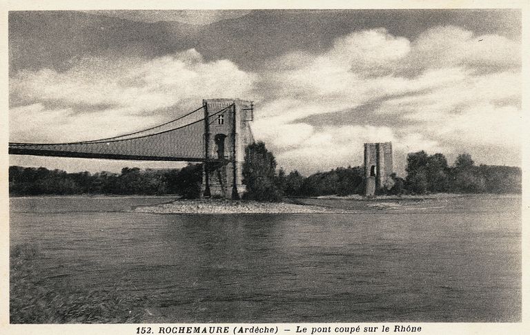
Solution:
<svg viewBox="0 0 530 335">
<path fill-rule="evenodd" d="M 245 150 L 244 198 L 281 201 L 285 196 L 353 195 L 364 192 L 362 166 L 337 167 L 307 177 L 298 171 L 277 169 L 273 153 L 263 142 Z M 520 193 L 521 169 L 515 166 L 475 165 L 469 154 L 458 155 L 449 166 L 442 153 L 425 151 L 407 155 L 406 177 L 391 175 L 391 182 L 380 194 L 426 193 Z M 188 164 L 182 169 L 140 170 L 125 167 L 121 173 L 79 172 L 10 166 L 10 195 L 164 195 L 199 198 L 202 164 Z"/>
</svg>

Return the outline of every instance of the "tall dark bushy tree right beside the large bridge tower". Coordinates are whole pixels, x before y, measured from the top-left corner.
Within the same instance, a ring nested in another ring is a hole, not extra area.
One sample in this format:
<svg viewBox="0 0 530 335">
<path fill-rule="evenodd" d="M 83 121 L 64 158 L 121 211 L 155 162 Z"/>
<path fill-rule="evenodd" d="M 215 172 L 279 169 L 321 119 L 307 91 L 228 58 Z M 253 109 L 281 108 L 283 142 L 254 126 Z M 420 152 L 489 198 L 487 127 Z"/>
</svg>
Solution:
<svg viewBox="0 0 530 335">
<path fill-rule="evenodd" d="M 280 201 L 282 191 L 277 185 L 276 160 L 264 142 L 249 144 L 245 148 L 243 183 L 244 198 L 259 201 Z"/>
</svg>

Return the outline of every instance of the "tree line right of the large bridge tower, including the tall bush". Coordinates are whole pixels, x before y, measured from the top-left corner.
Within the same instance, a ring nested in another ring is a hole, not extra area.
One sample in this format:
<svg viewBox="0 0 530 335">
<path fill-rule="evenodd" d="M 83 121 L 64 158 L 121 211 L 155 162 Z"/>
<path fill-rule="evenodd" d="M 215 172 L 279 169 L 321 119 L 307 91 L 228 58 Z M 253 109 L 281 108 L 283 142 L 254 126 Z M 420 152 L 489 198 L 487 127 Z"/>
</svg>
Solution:
<svg viewBox="0 0 530 335">
<path fill-rule="evenodd" d="M 276 171 L 276 161 L 262 142 L 251 144 L 244 163 L 246 198 L 278 201 L 284 196 L 353 195 L 364 193 L 364 168 L 337 167 L 304 177 L 298 171 Z M 458 155 L 449 166 L 442 153 L 407 155 L 406 178 L 395 173 L 380 195 L 426 193 L 520 193 L 521 169 L 516 166 L 476 166 L 471 155 Z"/>
</svg>

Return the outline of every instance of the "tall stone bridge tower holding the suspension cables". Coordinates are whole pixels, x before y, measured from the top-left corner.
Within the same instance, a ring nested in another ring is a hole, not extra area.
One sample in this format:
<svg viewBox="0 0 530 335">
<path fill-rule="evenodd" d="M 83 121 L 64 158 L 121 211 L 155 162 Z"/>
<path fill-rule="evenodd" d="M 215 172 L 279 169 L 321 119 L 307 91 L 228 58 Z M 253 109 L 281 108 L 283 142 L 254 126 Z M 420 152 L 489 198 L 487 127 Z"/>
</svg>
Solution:
<svg viewBox="0 0 530 335">
<path fill-rule="evenodd" d="M 253 103 L 241 99 L 204 99 L 204 169 L 202 195 L 239 199 L 245 191 L 245 148 L 254 142 Z M 215 111 L 223 113 L 211 116 Z"/>
</svg>

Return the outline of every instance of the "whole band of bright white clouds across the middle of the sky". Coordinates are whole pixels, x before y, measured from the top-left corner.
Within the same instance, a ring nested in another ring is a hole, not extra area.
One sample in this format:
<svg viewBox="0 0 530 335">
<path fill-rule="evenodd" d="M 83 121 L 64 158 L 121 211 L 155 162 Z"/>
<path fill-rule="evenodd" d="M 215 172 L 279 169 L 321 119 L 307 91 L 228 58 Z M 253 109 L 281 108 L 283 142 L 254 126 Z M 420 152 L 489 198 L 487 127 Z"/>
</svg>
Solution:
<svg viewBox="0 0 530 335">
<path fill-rule="evenodd" d="M 359 165 L 364 142 L 387 141 L 397 171 L 406 153 L 420 150 L 469 151 L 496 164 L 500 156 L 484 154 L 491 146 L 520 151 L 513 133 L 522 131 L 521 94 L 514 41 L 455 26 L 413 40 L 380 28 L 344 35 L 318 55 L 289 52 L 257 73 L 226 59 L 206 61 L 195 49 L 154 59 L 82 59 L 64 72 L 22 70 L 10 78 L 10 136 L 105 137 L 171 119 L 207 97 L 252 97 L 255 137 L 288 170 Z M 326 122 L 348 111 L 371 117 Z"/>
</svg>

